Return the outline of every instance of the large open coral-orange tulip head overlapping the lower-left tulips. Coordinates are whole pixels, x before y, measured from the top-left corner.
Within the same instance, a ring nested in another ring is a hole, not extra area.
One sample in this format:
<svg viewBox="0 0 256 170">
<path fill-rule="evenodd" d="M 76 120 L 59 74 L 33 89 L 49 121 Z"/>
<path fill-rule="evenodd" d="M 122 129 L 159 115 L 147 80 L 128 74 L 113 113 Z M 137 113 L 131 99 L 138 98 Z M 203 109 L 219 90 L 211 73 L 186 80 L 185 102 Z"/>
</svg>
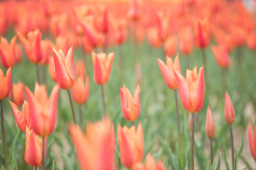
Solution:
<svg viewBox="0 0 256 170">
<path fill-rule="evenodd" d="M 31 128 L 40 136 L 49 136 L 54 130 L 57 118 L 57 103 L 59 87 L 55 85 L 51 96 L 47 99 L 45 85 L 35 85 L 34 94 L 25 87 L 29 104 L 29 114 L 31 115 Z"/>
</svg>

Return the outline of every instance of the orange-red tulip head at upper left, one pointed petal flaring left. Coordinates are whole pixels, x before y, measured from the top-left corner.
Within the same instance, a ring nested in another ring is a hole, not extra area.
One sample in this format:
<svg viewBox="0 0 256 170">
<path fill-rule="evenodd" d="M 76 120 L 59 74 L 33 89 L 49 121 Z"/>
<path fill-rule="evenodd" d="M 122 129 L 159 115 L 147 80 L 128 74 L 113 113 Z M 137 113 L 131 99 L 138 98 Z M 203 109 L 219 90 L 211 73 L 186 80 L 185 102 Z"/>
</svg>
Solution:
<svg viewBox="0 0 256 170">
<path fill-rule="evenodd" d="M 33 32 L 28 32 L 28 39 L 26 39 L 20 32 L 18 32 L 17 35 L 24 47 L 29 61 L 33 64 L 38 64 L 42 60 L 41 32 L 38 29 Z"/>
</svg>

